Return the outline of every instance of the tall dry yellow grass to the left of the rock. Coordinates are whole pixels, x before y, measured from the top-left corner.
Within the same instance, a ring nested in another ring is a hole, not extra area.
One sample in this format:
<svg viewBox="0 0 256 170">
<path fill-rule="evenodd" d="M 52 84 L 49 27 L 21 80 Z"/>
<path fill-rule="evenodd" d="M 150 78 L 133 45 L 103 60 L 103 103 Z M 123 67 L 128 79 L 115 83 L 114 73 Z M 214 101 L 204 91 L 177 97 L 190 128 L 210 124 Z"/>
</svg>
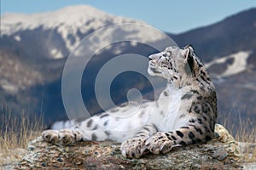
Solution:
<svg viewBox="0 0 256 170">
<path fill-rule="evenodd" d="M 13 164 L 26 154 L 26 145 L 40 135 L 41 117 L 29 117 L 26 111 L 14 116 L 7 107 L 0 113 L 0 165 Z"/>
</svg>

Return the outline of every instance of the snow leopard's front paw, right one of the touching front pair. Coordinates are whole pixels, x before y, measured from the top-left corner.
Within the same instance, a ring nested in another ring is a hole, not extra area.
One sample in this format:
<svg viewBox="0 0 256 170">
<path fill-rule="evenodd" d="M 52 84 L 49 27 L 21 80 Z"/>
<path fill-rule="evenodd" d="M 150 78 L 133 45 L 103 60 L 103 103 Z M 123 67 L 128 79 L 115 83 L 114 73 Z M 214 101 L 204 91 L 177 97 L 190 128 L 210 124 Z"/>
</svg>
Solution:
<svg viewBox="0 0 256 170">
<path fill-rule="evenodd" d="M 165 154 L 172 150 L 173 141 L 168 139 L 166 133 L 154 133 L 145 143 L 145 149 L 153 154 Z"/>
</svg>

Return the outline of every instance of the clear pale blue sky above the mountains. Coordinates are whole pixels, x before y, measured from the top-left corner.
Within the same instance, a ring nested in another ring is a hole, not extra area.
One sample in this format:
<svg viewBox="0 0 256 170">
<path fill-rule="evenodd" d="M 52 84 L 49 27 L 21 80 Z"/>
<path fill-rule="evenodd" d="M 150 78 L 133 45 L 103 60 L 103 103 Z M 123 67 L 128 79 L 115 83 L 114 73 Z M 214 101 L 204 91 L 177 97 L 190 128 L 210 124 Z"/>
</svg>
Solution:
<svg viewBox="0 0 256 170">
<path fill-rule="evenodd" d="M 162 31 L 179 33 L 207 26 L 231 14 L 255 8 L 254 0 L 0 0 L 1 15 L 54 11 L 69 5 L 87 4 L 108 14 L 143 20 Z M 192 3 L 193 2 L 193 3 Z"/>
</svg>

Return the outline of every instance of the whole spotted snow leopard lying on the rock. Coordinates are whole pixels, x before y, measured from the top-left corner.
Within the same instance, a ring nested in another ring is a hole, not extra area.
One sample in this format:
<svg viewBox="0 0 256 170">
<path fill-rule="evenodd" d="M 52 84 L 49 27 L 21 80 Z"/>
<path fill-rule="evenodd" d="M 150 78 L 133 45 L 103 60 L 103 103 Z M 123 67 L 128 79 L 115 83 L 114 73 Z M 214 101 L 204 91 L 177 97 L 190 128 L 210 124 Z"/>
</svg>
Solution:
<svg viewBox="0 0 256 170">
<path fill-rule="evenodd" d="M 148 152 L 166 153 L 175 146 L 212 139 L 216 92 L 194 49 L 190 45 L 170 47 L 148 59 L 148 74 L 164 77 L 167 82 L 156 102 L 143 102 L 137 114 L 130 116 L 127 114 L 137 109 L 136 103 L 120 105 L 84 121 L 70 121 L 71 127 L 55 123 L 52 127 L 66 128 L 44 131 L 44 140 L 56 144 L 114 140 L 122 142 L 123 156 L 139 158 Z"/>
</svg>

